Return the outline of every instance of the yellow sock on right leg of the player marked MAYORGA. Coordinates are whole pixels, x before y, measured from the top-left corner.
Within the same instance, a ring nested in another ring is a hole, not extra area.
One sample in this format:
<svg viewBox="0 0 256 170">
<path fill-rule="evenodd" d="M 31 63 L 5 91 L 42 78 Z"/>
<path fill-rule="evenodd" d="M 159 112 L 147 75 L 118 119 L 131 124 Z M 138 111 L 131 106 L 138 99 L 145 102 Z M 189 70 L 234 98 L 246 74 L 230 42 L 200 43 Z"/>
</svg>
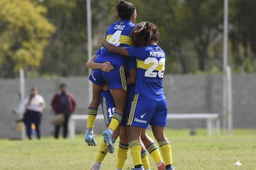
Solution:
<svg viewBox="0 0 256 170">
<path fill-rule="evenodd" d="M 163 161 L 166 165 L 172 164 L 172 150 L 171 150 L 171 144 L 169 141 L 161 141 L 158 143 L 162 156 Z"/>
</svg>

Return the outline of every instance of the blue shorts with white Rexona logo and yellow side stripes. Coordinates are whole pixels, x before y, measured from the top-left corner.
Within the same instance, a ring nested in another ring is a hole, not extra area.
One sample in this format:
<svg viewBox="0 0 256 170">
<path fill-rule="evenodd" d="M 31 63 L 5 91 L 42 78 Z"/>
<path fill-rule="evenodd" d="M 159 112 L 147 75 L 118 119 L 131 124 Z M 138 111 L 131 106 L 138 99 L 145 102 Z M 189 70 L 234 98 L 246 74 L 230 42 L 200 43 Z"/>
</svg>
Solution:
<svg viewBox="0 0 256 170">
<path fill-rule="evenodd" d="M 164 98 L 154 101 L 142 95 L 134 95 L 127 125 L 147 128 L 152 126 L 166 126 L 167 103 Z"/>
</svg>

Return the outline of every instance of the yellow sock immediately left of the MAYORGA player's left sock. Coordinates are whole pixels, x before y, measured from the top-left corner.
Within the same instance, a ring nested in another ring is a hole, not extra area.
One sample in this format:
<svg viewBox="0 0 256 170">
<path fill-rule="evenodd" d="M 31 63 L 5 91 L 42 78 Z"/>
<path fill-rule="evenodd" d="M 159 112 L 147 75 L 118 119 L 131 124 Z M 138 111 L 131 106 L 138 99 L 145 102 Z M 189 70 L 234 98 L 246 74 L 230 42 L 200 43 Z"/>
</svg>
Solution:
<svg viewBox="0 0 256 170">
<path fill-rule="evenodd" d="M 125 161 L 128 156 L 129 144 L 122 144 L 119 142 L 119 147 L 117 150 L 117 161 L 116 168 L 123 169 L 125 167 Z"/>
</svg>

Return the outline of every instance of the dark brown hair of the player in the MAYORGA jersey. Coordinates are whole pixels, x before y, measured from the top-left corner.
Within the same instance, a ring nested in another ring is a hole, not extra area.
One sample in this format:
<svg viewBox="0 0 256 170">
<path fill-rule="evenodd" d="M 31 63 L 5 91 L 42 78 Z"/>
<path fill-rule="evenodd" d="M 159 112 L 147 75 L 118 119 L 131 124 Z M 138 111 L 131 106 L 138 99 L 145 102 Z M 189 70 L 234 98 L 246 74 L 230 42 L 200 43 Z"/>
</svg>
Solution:
<svg viewBox="0 0 256 170">
<path fill-rule="evenodd" d="M 150 22 L 138 23 L 131 32 L 131 40 L 134 47 L 147 46 L 151 41 L 157 41 L 159 37 L 157 26 Z"/>
</svg>

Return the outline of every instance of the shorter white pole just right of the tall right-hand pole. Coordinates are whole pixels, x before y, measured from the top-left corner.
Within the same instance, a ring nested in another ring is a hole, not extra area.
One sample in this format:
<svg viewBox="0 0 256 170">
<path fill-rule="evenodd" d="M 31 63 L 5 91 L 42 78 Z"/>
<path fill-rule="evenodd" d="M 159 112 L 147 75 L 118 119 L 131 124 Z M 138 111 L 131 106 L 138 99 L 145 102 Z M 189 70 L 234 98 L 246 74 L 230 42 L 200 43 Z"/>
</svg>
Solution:
<svg viewBox="0 0 256 170">
<path fill-rule="evenodd" d="M 227 125 L 228 134 L 232 135 L 233 129 L 233 106 L 232 106 L 232 77 L 230 66 L 227 66 Z"/>
</svg>

